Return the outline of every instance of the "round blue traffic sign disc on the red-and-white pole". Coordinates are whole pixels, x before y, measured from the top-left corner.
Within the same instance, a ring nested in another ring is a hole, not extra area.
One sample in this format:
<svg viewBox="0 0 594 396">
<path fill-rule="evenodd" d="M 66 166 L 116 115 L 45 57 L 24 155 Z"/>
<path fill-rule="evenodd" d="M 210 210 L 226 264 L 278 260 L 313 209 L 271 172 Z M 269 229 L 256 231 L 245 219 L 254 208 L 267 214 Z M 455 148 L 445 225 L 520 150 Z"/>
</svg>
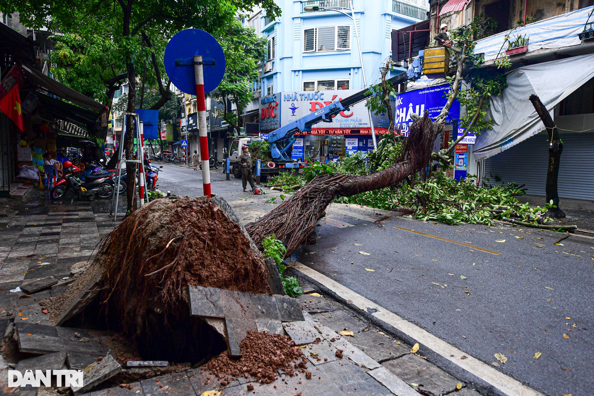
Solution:
<svg viewBox="0 0 594 396">
<path fill-rule="evenodd" d="M 204 93 L 219 86 L 225 74 L 225 54 L 213 36 L 200 29 L 176 33 L 165 48 L 165 71 L 173 85 L 189 95 L 196 95 L 195 55 L 202 56 Z"/>
</svg>

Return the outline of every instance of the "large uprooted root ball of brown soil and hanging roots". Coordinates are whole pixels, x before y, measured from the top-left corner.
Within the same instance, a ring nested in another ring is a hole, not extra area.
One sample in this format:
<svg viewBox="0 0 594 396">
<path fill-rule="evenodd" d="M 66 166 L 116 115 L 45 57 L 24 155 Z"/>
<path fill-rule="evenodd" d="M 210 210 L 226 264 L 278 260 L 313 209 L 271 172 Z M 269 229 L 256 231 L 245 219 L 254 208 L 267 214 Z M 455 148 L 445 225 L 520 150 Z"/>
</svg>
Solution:
<svg viewBox="0 0 594 396">
<path fill-rule="evenodd" d="M 146 328 L 149 311 L 187 310 L 178 305 L 188 285 L 271 294 L 261 254 L 207 197 L 136 210 L 103 238 L 95 262 L 105 268 L 102 301 L 128 334 Z"/>
</svg>

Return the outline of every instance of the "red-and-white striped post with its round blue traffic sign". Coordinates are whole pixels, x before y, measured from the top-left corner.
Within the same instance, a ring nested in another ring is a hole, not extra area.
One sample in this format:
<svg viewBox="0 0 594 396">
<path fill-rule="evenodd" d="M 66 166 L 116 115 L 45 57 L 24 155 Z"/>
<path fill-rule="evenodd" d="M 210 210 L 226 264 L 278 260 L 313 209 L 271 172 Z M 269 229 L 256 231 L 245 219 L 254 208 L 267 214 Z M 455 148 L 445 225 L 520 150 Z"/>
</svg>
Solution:
<svg viewBox="0 0 594 396">
<path fill-rule="evenodd" d="M 169 80 L 179 90 L 196 95 L 203 191 L 204 195 L 210 197 L 205 95 L 223 80 L 225 54 L 219 42 L 204 30 L 185 29 L 169 40 L 165 48 L 164 64 Z"/>
</svg>

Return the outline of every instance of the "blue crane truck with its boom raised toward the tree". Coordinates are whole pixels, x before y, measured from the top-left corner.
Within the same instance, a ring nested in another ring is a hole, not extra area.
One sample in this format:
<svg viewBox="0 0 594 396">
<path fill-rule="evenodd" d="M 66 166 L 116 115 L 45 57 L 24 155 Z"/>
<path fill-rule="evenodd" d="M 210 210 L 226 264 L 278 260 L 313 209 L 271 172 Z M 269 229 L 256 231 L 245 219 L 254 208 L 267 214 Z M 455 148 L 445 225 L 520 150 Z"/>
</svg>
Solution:
<svg viewBox="0 0 594 396">
<path fill-rule="evenodd" d="M 404 83 L 408 80 L 416 80 L 421 77 L 423 59 L 424 51 L 419 51 L 419 57 L 410 64 L 408 70 L 390 78 L 388 81 L 395 85 Z M 307 166 L 307 164 L 304 164 L 303 162 L 293 160 L 290 156 L 293 143 L 295 142 L 294 135 L 296 132 L 309 132 L 311 131 L 312 125 L 317 124 L 318 122 L 332 122 L 332 117 L 334 115 L 339 114 L 341 111 L 350 111 L 350 106 L 362 102 L 370 96 L 371 94 L 368 89 L 361 90 L 347 98 L 330 103 L 311 114 L 305 115 L 298 120 L 290 122 L 289 124 L 268 133 L 268 143 L 270 143 L 270 156 L 272 161 L 268 162 L 268 164 L 262 164 L 260 168 L 263 180 L 266 180 L 267 176 L 277 175 L 279 172 L 294 171 Z M 232 165 L 232 173 L 236 178 L 241 178 L 241 168 L 237 162 L 237 159 L 241 154 L 241 147 L 244 145 L 249 146 L 254 140 L 262 139 L 255 137 L 240 137 L 239 139 L 233 140 L 233 143 L 231 144 L 229 158 L 230 164 Z"/>
</svg>

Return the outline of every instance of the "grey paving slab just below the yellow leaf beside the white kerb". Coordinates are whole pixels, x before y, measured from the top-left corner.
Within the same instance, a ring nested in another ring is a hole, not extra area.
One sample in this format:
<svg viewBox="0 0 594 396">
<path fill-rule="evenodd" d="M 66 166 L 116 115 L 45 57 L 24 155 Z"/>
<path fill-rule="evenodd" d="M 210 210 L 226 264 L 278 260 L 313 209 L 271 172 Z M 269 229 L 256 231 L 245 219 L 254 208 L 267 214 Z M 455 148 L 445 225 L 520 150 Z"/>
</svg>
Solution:
<svg viewBox="0 0 594 396">
<path fill-rule="evenodd" d="M 383 364 L 407 384 L 422 384 L 421 390 L 429 396 L 446 394 L 456 390 L 456 381 L 444 370 L 414 354 L 407 354 Z"/>
</svg>

